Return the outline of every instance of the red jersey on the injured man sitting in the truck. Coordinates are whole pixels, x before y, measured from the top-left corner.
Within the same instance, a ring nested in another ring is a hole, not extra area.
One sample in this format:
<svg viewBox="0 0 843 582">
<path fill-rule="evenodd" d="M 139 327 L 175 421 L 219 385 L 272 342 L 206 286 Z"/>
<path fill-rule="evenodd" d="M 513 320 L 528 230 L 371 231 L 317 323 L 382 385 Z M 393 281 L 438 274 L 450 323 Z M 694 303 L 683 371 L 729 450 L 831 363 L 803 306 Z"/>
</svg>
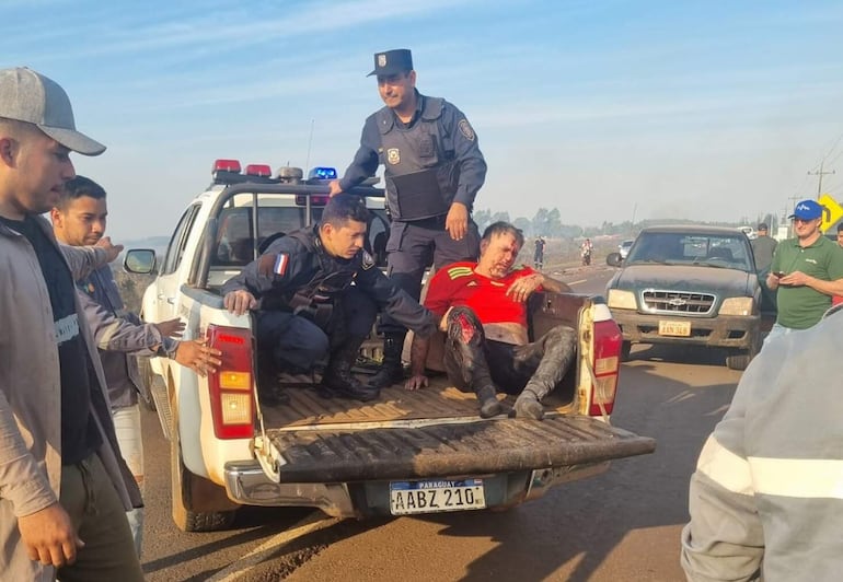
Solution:
<svg viewBox="0 0 843 582">
<path fill-rule="evenodd" d="M 465 306 L 483 324 L 515 323 L 527 327 L 527 304 L 518 303 L 506 292 L 515 281 L 535 271 L 522 265 L 503 279 L 489 279 L 474 272 L 476 266 L 453 263 L 436 271 L 427 289 L 425 307 L 441 317 L 449 307 Z"/>
</svg>

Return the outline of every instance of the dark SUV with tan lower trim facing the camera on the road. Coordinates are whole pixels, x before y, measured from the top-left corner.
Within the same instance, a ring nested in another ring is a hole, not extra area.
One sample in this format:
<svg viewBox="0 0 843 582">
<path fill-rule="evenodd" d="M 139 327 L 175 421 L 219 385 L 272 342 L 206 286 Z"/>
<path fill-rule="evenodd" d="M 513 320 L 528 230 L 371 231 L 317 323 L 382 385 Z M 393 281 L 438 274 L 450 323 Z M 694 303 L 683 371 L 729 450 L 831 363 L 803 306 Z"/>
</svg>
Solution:
<svg viewBox="0 0 843 582">
<path fill-rule="evenodd" d="M 615 255 L 616 257 L 616 255 Z M 607 284 L 607 302 L 632 344 L 726 348 L 743 370 L 761 348 L 761 287 L 749 240 L 735 229 L 653 226 L 638 234 Z"/>
</svg>

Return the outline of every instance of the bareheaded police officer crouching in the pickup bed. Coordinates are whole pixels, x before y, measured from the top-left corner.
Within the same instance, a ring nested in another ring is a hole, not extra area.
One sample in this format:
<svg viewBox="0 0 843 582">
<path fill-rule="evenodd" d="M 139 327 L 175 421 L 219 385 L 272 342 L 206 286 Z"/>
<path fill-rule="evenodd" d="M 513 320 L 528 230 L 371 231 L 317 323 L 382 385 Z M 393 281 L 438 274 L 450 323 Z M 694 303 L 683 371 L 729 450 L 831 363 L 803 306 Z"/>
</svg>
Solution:
<svg viewBox="0 0 843 582">
<path fill-rule="evenodd" d="M 420 337 L 436 330 L 431 313 L 395 287 L 363 249 L 368 221 L 362 198 L 334 196 L 322 222 L 278 238 L 223 286 L 229 311 L 256 311 L 258 362 L 275 366 L 268 380 L 277 371 L 308 371 L 327 356 L 320 394 L 372 400 L 380 389 L 360 383 L 351 365 L 378 309 Z M 268 375 L 263 371 L 258 393 L 264 401 L 287 400 L 276 386 L 261 382 Z"/>
</svg>

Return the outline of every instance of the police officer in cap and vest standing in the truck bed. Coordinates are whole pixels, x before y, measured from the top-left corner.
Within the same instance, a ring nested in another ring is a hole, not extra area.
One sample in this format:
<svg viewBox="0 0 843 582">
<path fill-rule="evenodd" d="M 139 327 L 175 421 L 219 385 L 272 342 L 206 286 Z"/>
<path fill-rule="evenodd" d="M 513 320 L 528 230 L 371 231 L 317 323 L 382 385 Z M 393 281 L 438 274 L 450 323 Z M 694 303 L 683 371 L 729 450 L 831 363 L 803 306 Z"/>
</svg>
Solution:
<svg viewBox="0 0 843 582">
<path fill-rule="evenodd" d="M 389 275 L 418 300 L 422 277 L 431 264 L 440 268 L 476 260 L 480 255 L 480 233 L 471 211 L 486 177 L 486 162 L 465 115 L 443 98 L 416 90 L 409 50 L 376 54 L 371 75 L 377 75 L 386 106 L 366 119 L 360 149 L 345 176 L 331 183 L 331 194 L 357 186 L 384 165 L 392 218 Z M 403 377 L 406 329 L 385 314 L 381 330 L 383 365 L 371 380 L 377 387 Z"/>
</svg>

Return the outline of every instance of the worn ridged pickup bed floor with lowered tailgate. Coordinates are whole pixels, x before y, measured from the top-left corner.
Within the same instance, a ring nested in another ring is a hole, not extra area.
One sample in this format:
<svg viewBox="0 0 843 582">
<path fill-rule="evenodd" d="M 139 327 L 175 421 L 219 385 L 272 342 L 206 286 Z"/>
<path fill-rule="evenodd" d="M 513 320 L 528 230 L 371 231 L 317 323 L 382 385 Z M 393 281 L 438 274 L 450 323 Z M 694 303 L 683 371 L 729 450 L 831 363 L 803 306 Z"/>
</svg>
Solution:
<svg viewBox="0 0 843 582">
<path fill-rule="evenodd" d="M 430 386 L 415 392 L 388 387 L 373 403 L 324 399 L 313 388 L 288 388 L 290 405 L 263 407 L 263 420 L 267 441 L 282 458 L 277 469 L 281 482 L 478 476 L 653 452 L 651 439 L 599 418 L 571 415 L 564 387 L 547 397 L 543 421 L 503 415 L 481 419 L 474 395 L 451 386 L 446 376 L 435 376 Z M 506 408 L 515 401 L 499 397 Z"/>
</svg>

